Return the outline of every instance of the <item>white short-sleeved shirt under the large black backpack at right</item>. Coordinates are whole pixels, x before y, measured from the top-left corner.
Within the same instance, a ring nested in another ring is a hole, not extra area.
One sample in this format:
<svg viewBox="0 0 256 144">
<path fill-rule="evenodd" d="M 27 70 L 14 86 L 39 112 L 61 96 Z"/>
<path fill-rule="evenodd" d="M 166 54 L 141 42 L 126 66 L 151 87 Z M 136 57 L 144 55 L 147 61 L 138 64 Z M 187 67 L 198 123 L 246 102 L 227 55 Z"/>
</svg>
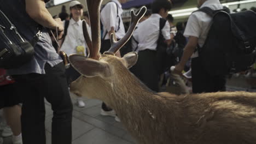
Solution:
<svg viewBox="0 0 256 144">
<path fill-rule="evenodd" d="M 213 10 L 223 9 L 223 5 L 220 4 L 219 0 L 208 0 L 202 4 L 202 7 L 209 7 Z M 198 44 L 200 47 L 205 44 L 207 34 L 212 25 L 212 17 L 203 13 L 202 11 L 196 11 L 195 13 L 189 16 L 187 26 L 184 31 L 185 37 L 194 36 L 198 38 Z M 196 51 L 193 53 L 191 58 L 198 57 L 199 54 Z"/>
</svg>

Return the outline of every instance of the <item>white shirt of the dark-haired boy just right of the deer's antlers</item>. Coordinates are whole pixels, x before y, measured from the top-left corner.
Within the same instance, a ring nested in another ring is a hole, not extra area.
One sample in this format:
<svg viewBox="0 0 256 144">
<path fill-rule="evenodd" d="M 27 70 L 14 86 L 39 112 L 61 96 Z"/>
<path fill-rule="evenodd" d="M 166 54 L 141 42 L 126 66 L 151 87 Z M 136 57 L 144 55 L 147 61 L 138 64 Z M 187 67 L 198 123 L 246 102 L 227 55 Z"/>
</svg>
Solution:
<svg viewBox="0 0 256 144">
<path fill-rule="evenodd" d="M 146 49 L 156 51 L 160 34 L 160 18 L 161 16 L 159 14 L 152 14 L 147 20 L 139 24 L 138 28 L 133 33 L 133 38 L 138 41 L 138 49 L 136 52 Z M 162 35 L 166 40 L 171 39 L 170 24 L 168 21 L 166 21 L 164 28 L 162 28 Z"/>
</svg>

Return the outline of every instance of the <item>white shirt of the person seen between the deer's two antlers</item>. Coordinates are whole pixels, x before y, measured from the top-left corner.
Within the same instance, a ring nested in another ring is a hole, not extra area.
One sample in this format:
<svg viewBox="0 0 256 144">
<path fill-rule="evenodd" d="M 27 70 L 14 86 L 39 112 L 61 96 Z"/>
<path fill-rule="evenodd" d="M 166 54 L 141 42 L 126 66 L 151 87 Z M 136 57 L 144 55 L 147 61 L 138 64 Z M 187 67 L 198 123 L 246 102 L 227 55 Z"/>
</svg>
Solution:
<svg viewBox="0 0 256 144">
<path fill-rule="evenodd" d="M 117 39 L 121 39 L 125 35 L 124 23 L 121 17 L 123 13 L 122 5 L 118 0 L 112 0 L 113 2 L 109 2 L 105 5 L 105 7 L 101 11 L 101 22 L 103 25 L 103 36 L 106 34 L 106 30 L 109 32 L 111 27 L 115 29 L 115 35 Z M 118 4 L 118 14 L 117 14 L 117 3 Z M 118 17 L 118 16 L 119 17 Z M 119 26 L 120 19 L 120 26 Z M 120 27 L 118 30 L 118 26 Z M 117 31 L 118 30 L 118 31 Z M 109 35 L 107 34 L 105 39 L 109 39 Z"/>
</svg>

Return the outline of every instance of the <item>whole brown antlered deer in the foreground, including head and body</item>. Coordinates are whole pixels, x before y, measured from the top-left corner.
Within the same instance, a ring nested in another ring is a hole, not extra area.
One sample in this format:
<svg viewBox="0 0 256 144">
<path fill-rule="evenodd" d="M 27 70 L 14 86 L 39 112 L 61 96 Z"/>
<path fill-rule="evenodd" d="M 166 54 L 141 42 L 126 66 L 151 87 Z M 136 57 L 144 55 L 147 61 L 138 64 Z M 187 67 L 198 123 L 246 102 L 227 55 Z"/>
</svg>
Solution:
<svg viewBox="0 0 256 144">
<path fill-rule="evenodd" d="M 256 93 L 216 92 L 175 95 L 151 91 L 130 73 L 137 62 L 136 52 L 122 58 L 115 53 L 130 39 L 139 19 L 146 12 L 131 11 L 130 27 L 123 39 L 115 41 L 101 54 L 100 5 L 102 0 L 87 0 L 91 39 L 83 21 L 89 46 L 88 57 L 71 55 L 71 65 L 82 76 L 71 83 L 70 91 L 89 95 L 112 107 L 121 122 L 141 144 L 241 144 L 256 143 Z"/>
</svg>

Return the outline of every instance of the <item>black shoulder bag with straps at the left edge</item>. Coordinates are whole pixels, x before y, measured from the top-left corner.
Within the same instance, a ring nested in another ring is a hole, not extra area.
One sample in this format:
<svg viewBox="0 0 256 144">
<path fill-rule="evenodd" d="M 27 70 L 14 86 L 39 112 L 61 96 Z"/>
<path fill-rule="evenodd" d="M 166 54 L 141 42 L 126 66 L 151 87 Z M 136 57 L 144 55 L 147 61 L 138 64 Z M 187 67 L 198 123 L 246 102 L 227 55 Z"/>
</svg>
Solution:
<svg viewBox="0 0 256 144">
<path fill-rule="evenodd" d="M 2 10 L 0 19 L 0 68 L 18 68 L 34 56 L 33 47 L 41 36 L 40 31 L 31 41 L 27 41 Z"/>
</svg>

